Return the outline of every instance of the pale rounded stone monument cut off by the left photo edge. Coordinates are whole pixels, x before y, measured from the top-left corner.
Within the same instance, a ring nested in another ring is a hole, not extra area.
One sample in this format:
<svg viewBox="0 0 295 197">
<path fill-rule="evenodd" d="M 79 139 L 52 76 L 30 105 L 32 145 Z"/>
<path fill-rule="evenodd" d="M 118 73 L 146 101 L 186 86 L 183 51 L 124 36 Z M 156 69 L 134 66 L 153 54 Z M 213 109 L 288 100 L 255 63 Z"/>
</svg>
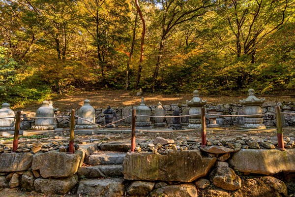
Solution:
<svg viewBox="0 0 295 197">
<path fill-rule="evenodd" d="M 0 135 L 11 135 L 14 133 L 14 112 L 10 109 L 9 103 L 2 104 L 0 109 Z M 4 132 L 3 132 L 4 131 Z M 7 132 L 5 132 L 7 131 Z"/>
</svg>

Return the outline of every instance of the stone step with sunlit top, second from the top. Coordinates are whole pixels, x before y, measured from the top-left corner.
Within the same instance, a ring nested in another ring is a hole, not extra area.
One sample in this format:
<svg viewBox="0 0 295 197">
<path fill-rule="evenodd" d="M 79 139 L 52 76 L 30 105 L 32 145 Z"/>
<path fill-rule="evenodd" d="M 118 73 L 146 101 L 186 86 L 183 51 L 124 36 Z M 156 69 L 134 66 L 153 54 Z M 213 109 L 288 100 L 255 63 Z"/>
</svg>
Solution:
<svg viewBox="0 0 295 197">
<path fill-rule="evenodd" d="M 89 165 L 123 164 L 125 155 L 126 153 L 101 151 L 90 155 L 85 163 Z"/>
</svg>

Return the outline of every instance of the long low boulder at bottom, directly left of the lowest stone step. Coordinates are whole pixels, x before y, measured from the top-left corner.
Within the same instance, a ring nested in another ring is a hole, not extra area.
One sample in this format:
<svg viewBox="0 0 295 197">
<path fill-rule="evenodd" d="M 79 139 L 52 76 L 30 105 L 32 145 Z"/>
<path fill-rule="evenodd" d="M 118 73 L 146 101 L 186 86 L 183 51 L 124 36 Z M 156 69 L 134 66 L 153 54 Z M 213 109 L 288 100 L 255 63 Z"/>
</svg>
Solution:
<svg viewBox="0 0 295 197">
<path fill-rule="evenodd" d="M 62 179 L 38 178 L 34 182 L 36 192 L 43 194 L 66 194 L 78 183 L 77 174 Z"/>
</svg>

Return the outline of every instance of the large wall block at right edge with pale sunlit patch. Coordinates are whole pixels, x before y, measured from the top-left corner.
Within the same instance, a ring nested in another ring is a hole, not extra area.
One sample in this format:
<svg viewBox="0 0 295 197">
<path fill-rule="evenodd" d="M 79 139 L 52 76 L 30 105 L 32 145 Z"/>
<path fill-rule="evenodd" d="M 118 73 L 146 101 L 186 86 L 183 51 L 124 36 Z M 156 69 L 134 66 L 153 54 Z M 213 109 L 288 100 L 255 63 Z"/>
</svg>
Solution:
<svg viewBox="0 0 295 197">
<path fill-rule="evenodd" d="M 234 169 L 240 172 L 276 174 L 295 172 L 295 149 L 286 151 L 266 149 L 241 149 L 229 159 Z"/>
</svg>

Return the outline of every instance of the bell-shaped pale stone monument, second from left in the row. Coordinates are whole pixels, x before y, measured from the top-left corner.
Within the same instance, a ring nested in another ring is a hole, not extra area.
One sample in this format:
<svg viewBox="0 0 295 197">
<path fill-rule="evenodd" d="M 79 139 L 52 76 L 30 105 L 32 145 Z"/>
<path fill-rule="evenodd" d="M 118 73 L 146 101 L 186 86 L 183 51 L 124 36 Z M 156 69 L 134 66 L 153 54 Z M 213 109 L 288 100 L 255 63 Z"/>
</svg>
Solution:
<svg viewBox="0 0 295 197">
<path fill-rule="evenodd" d="M 55 114 L 53 109 L 49 106 L 49 102 L 44 100 L 41 107 L 39 107 L 36 111 L 35 125 L 32 126 L 31 129 L 33 131 L 55 130 L 57 126 L 54 125 L 54 117 Z"/>
</svg>

